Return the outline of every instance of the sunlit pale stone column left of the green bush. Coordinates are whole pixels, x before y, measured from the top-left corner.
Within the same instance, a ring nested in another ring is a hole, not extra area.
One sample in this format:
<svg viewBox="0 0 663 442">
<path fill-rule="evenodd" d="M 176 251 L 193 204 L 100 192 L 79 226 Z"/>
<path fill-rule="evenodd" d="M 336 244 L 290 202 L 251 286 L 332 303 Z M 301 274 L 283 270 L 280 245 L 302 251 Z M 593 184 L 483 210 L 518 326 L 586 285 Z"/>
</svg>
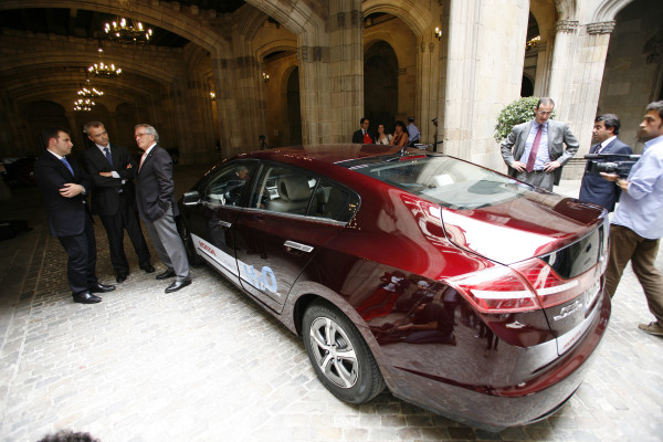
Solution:
<svg viewBox="0 0 663 442">
<path fill-rule="evenodd" d="M 493 134 L 502 108 L 520 93 L 529 2 L 444 0 L 443 11 L 444 151 L 504 169 Z"/>
</svg>

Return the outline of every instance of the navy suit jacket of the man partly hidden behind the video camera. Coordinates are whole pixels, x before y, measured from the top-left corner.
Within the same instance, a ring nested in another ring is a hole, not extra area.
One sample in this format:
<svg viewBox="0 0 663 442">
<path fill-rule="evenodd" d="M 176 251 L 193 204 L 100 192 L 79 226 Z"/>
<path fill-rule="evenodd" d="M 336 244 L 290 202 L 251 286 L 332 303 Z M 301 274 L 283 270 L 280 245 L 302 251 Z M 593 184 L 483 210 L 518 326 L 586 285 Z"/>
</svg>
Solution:
<svg viewBox="0 0 663 442">
<path fill-rule="evenodd" d="M 593 145 L 590 149 L 590 154 L 594 154 L 599 145 Z M 610 143 L 601 154 L 633 154 L 633 149 L 619 138 L 615 138 Z M 596 161 L 596 160 L 594 160 Z M 602 160 L 598 160 L 602 161 Z M 610 161 L 610 160 L 607 160 Z M 582 202 L 591 202 L 592 204 L 599 204 L 612 212 L 614 204 L 619 201 L 620 188 L 614 182 L 603 179 L 599 173 L 592 173 L 585 169 L 582 176 L 582 183 L 580 185 L 580 194 L 578 199 Z"/>
</svg>

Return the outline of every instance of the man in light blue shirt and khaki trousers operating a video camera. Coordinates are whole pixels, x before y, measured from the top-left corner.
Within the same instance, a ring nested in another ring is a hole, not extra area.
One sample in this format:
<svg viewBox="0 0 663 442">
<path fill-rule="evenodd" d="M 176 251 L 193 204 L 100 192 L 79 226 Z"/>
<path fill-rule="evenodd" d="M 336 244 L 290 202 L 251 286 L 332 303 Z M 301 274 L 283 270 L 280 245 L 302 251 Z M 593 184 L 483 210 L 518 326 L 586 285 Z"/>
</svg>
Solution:
<svg viewBox="0 0 663 442">
<path fill-rule="evenodd" d="M 638 328 L 663 336 L 663 276 L 654 265 L 663 236 L 663 101 L 646 106 L 639 135 L 646 143 L 629 178 L 601 172 L 623 192 L 610 225 L 606 291 L 610 297 L 614 295 L 624 267 L 631 261 L 650 312 L 656 317 Z"/>
</svg>

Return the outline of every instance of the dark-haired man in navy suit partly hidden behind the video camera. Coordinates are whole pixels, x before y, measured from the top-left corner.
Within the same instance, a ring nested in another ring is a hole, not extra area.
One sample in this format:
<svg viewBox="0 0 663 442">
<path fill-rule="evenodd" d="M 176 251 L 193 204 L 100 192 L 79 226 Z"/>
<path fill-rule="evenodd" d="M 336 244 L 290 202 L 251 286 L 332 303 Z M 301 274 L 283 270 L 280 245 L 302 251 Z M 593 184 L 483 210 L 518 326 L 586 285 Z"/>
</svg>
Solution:
<svg viewBox="0 0 663 442">
<path fill-rule="evenodd" d="M 621 123 L 619 117 L 614 114 L 599 115 L 594 119 L 594 127 L 591 131 L 592 140 L 597 143 L 590 149 L 590 154 L 633 154 L 633 149 L 624 143 L 622 143 L 617 136 L 619 135 L 619 128 Z M 594 160 L 596 161 L 596 160 Z M 608 159 L 607 161 L 610 161 Z M 614 186 L 600 173 L 590 172 L 587 169 L 582 176 L 582 183 L 580 185 L 580 196 L 578 199 L 583 202 L 591 202 L 599 204 L 612 212 L 614 204 L 619 200 L 620 188 Z"/>
</svg>

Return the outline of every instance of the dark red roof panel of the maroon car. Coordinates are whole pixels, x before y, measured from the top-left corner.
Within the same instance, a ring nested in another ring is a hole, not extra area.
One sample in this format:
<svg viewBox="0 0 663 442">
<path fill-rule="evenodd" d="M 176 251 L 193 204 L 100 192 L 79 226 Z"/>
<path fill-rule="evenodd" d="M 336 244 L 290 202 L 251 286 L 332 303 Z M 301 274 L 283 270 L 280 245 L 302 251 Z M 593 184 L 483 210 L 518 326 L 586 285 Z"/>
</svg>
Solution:
<svg viewBox="0 0 663 442">
<path fill-rule="evenodd" d="M 335 145 L 308 145 L 294 147 L 278 147 L 267 150 L 259 150 L 241 155 L 239 158 L 271 159 L 284 162 L 315 161 L 323 164 L 337 164 L 351 159 L 376 157 L 381 155 L 394 155 L 401 150 L 396 146 L 335 144 Z"/>
</svg>

